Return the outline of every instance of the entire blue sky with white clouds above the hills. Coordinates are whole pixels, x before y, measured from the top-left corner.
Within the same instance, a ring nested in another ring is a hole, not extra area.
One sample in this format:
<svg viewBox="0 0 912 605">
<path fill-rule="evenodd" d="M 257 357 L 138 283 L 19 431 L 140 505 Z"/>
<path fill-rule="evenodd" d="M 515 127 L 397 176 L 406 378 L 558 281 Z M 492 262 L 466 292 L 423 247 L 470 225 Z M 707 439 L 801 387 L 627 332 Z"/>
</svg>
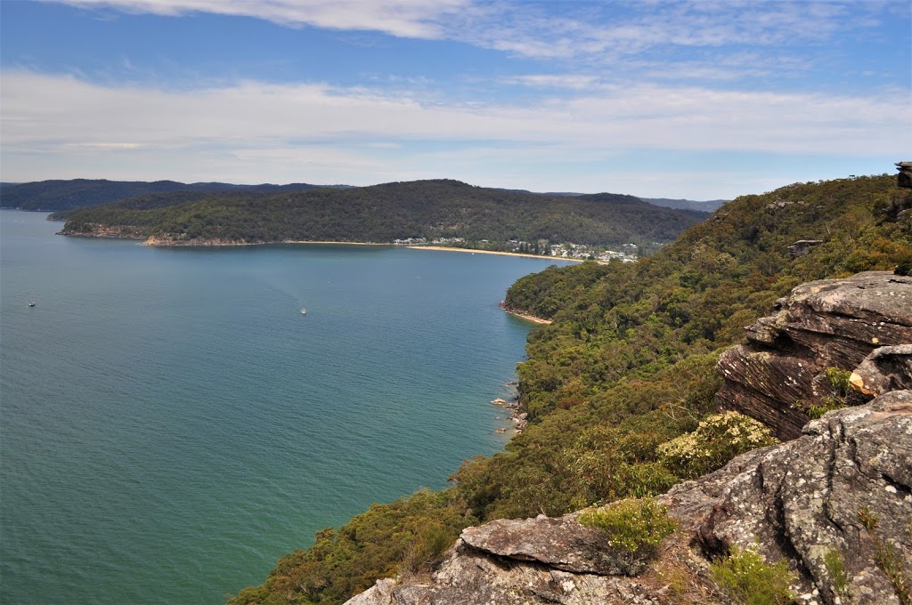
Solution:
<svg viewBox="0 0 912 605">
<path fill-rule="evenodd" d="M 0 179 L 709 200 L 912 159 L 912 5 L 0 0 Z"/>
</svg>

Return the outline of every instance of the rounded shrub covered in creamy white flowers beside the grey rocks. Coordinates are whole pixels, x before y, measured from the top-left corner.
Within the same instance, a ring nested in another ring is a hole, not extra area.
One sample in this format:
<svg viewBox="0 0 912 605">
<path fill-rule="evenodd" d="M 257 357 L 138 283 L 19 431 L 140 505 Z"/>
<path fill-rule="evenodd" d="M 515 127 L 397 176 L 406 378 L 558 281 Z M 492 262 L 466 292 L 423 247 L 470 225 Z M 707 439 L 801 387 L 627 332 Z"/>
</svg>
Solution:
<svg viewBox="0 0 912 605">
<path fill-rule="evenodd" d="M 779 443 L 770 429 L 738 412 L 707 416 L 697 430 L 658 446 L 658 459 L 684 479 L 700 477 L 734 456 Z"/>
</svg>

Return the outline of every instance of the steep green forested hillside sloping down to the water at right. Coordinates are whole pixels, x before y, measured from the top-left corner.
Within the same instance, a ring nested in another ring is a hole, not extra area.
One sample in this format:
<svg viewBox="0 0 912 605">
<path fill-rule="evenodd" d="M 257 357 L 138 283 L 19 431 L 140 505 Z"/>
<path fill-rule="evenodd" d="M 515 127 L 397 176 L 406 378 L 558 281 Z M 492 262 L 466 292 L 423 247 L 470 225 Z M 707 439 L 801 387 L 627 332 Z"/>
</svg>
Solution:
<svg viewBox="0 0 912 605">
<path fill-rule="evenodd" d="M 551 268 L 516 282 L 515 308 L 554 320 L 520 365 L 531 422 L 503 453 L 465 462 L 440 492 L 375 505 L 281 559 L 231 603 L 339 603 L 427 569 L 461 528 L 559 515 L 665 491 L 757 444 L 716 443 L 710 466 L 658 446 L 715 411 L 720 351 L 800 282 L 912 268 L 912 193 L 891 176 L 795 184 L 731 201 L 635 265 Z M 804 256 L 794 241 L 820 240 Z"/>
</svg>

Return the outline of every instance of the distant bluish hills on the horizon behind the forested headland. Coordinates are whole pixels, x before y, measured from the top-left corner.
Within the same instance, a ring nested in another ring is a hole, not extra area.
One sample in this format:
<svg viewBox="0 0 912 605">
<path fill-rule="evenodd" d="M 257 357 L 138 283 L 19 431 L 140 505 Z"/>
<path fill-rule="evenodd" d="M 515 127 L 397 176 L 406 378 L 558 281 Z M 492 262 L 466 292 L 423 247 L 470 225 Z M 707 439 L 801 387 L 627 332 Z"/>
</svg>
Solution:
<svg viewBox="0 0 912 605">
<path fill-rule="evenodd" d="M 19 210 L 39 210 L 57 212 L 73 210 L 85 206 L 109 204 L 115 201 L 128 200 L 138 196 L 154 193 L 174 193 L 188 191 L 212 193 L 219 191 L 236 191 L 245 193 L 278 193 L 282 191 L 306 191 L 318 188 L 352 189 L 350 185 L 311 185 L 308 183 L 289 183 L 287 185 L 235 185 L 232 183 L 181 183 L 174 180 L 129 181 L 107 179 L 68 179 L 41 180 L 27 183 L 0 183 L 0 208 L 18 208 Z M 513 193 L 534 193 L 548 197 L 578 198 L 585 193 L 545 192 L 529 190 L 499 189 Z M 700 210 L 711 212 L 728 200 L 669 200 L 666 198 L 639 198 L 654 206 L 678 210 Z"/>
</svg>

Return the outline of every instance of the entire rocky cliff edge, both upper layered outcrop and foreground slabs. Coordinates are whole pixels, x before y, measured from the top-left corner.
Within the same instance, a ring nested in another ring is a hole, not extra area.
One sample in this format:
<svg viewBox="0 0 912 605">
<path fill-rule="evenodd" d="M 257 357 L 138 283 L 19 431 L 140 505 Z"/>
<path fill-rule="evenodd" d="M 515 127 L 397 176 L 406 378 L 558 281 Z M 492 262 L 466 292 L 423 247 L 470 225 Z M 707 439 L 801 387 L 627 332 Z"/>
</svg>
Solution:
<svg viewBox="0 0 912 605">
<path fill-rule="evenodd" d="M 779 314 L 751 326 L 739 364 L 801 368 L 794 371 L 804 394 L 814 393 L 825 365 L 848 366 L 855 387 L 875 398 L 658 497 L 679 522 L 658 559 L 612 549 L 599 531 L 580 525 L 578 513 L 501 519 L 465 529 L 430 574 L 379 580 L 348 604 L 723 603 L 730 601 L 711 579 L 709 561 L 734 549 L 787 561 L 799 603 L 909 602 L 900 595 L 908 599 L 903 582 L 912 570 L 910 294 L 912 280 L 890 273 L 811 282 Z M 720 364 L 723 374 L 726 367 Z M 790 375 L 778 380 L 789 383 Z M 766 376 L 761 384 L 775 382 Z M 898 575 L 885 572 L 885 553 Z"/>
</svg>

